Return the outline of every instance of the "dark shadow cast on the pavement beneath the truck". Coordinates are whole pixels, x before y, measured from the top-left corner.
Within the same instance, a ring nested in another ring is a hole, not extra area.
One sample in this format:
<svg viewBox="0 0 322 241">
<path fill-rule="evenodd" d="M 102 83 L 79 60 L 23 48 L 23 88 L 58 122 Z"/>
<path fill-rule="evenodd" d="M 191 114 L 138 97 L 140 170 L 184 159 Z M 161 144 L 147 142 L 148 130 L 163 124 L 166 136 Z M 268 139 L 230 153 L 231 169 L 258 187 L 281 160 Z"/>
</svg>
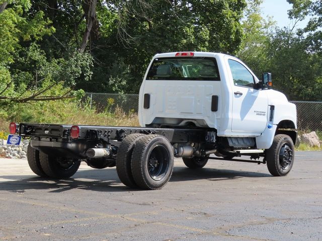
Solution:
<svg viewBox="0 0 322 241">
<path fill-rule="evenodd" d="M 0 176 L 12 181 L 0 182 L 0 190 L 10 192 L 25 192 L 29 189 L 50 189 L 49 192 L 59 193 L 71 189 L 84 189 L 99 192 L 122 192 L 142 191 L 124 186 L 119 180 L 115 168 L 113 169 L 89 169 L 79 170 L 72 178 L 65 180 L 47 179 L 37 176 Z M 189 180 L 224 181 L 242 177 L 271 177 L 266 173 L 254 173 L 233 171 L 225 169 L 189 169 L 186 167 L 175 167 L 170 182 L 182 182 Z M 86 180 L 84 180 L 86 179 Z"/>
</svg>

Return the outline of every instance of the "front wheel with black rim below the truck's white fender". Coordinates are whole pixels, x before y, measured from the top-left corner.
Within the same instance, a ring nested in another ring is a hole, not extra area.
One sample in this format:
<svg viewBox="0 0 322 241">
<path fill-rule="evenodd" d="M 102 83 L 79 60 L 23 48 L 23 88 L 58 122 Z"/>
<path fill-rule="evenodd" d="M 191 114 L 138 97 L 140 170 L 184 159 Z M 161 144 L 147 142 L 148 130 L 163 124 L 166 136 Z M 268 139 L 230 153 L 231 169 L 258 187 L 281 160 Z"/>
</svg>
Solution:
<svg viewBox="0 0 322 241">
<path fill-rule="evenodd" d="M 273 176 L 286 176 L 294 162 L 294 144 L 287 135 L 276 135 L 272 146 L 266 150 L 268 171 Z"/>
</svg>

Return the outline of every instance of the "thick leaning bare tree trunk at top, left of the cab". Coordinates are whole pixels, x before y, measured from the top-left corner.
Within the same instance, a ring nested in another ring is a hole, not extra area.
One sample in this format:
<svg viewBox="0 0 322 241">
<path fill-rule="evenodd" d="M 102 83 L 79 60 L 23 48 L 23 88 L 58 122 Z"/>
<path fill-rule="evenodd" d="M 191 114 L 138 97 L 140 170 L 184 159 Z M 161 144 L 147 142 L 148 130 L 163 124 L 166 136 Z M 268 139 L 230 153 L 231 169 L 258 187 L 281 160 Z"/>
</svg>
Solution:
<svg viewBox="0 0 322 241">
<path fill-rule="evenodd" d="M 84 0 L 83 2 L 83 9 L 86 17 L 86 30 L 83 35 L 82 44 L 79 47 L 79 51 L 81 53 L 84 53 L 86 49 L 87 43 L 91 36 L 93 25 L 96 22 L 96 5 L 97 0 Z"/>
</svg>

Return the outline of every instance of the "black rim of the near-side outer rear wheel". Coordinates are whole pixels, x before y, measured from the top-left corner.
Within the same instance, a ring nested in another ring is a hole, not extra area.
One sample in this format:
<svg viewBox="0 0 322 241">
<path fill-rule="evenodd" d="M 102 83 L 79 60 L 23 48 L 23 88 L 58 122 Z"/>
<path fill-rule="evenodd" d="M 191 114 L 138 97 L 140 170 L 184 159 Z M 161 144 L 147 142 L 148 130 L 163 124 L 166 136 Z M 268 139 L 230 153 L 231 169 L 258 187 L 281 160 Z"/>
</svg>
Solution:
<svg viewBox="0 0 322 241">
<path fill-rule="evenodd" d="M 164 146 L 157 145 L 151 150 L 147 169 L 153 180 L 159 181 L 166 176 L 169 169 L 169 160 L 168 151 Z"/>
</svg>

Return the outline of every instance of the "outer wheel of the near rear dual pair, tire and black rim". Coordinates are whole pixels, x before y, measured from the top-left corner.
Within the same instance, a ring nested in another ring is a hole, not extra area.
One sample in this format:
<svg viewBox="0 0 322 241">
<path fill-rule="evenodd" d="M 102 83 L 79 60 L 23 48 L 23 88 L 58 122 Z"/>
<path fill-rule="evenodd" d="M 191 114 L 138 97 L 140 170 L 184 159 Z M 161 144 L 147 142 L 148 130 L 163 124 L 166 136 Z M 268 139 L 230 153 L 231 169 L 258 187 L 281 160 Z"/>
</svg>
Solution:
<svg viewBox="0 0 322 241">
<path fill-rule="evenodd" d="M 131 169 L 135 183 L 143 189 L 163 188 L 171 178 L 174 154 L 163 136 L 140 137 L 133 149 Z"/>
</svg>

